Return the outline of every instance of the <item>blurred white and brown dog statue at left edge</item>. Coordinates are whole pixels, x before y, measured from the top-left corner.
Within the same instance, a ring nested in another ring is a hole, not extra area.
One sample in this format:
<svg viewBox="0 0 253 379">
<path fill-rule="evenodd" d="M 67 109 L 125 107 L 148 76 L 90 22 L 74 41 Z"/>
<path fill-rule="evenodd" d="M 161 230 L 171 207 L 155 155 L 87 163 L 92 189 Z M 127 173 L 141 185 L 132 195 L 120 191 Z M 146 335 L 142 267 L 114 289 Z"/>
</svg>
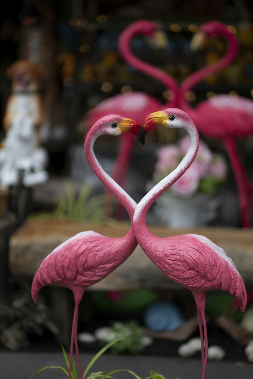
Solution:
<svg viewBox="0 0 253 379">
<path fill-rule="evenodd" d="M 0 149 L 0 183 L 16 185 L 19 172 L 23 172 L 25 186 L 47 180 L 45 171 L 47 152 L 39 144 L 39 128 L 42 124 L 43 109 L 40 94 L 41 69 L 34 63 L 20 60 L 7 70 L 12 80 L 3 125 L 6 138 Z"/>
</svg>

